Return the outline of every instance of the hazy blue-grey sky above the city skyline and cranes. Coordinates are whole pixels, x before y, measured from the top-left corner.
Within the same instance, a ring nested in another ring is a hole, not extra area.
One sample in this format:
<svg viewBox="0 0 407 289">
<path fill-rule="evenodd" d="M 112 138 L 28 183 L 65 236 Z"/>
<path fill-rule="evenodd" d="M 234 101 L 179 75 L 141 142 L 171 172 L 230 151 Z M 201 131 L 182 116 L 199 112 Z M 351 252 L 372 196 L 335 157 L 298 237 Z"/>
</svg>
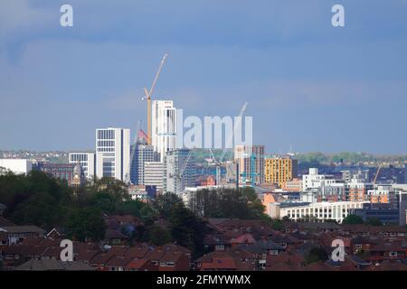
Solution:
<svg viewBox="0 0 407 289">
<path fill-rule="evenodd" d="M 60 7 L 73 7 L 73 27 Z M 345 27 L 333 27 L 333 5 Z M 90 150 L 185 116 L 253 117 L 268 153 L 407 153 L 407 0 L 0 0 L 0 149 Z"/>
</svg>

